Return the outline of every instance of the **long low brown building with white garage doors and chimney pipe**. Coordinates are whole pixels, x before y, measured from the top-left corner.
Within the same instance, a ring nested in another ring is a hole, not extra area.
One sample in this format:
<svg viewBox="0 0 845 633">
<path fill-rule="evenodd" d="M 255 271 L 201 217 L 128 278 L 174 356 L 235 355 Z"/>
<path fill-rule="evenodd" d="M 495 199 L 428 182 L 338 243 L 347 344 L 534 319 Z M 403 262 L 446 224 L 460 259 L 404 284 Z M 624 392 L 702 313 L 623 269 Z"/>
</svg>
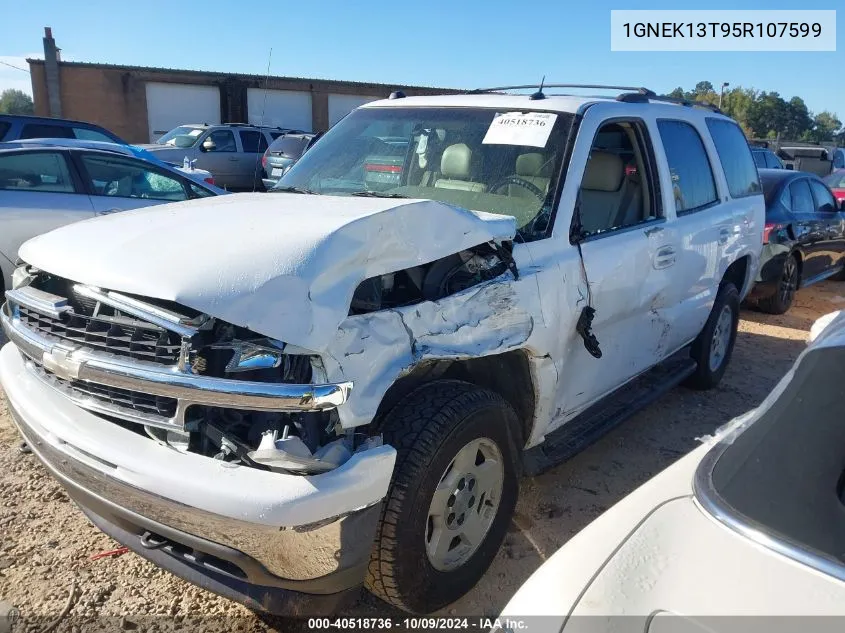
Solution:
<svg viewBox="0 0 845 633">
<path fill-rule="evenodd" d="M 319 132 L 367 101 L 455 92 L 421 86 L 265 77 L 61 61 L 50 28 L 28 59 L 35 113 L 90 121 L 132 143 L 183 123 L 249 122 Z"/>
</svg>

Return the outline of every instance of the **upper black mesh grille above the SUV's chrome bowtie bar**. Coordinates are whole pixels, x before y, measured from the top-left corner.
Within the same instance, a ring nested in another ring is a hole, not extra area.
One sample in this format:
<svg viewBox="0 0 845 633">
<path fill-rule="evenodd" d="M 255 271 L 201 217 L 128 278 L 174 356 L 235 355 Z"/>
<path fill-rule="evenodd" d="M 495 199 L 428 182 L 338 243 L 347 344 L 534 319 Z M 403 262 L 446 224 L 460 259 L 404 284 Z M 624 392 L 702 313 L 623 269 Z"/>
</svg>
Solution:
<svg viewBox="0 0 845 633">
<path fill-rule="evenodd" d="M 120 316 L 94 316 L 94 311 L 79 305 L 84 312 L 65 312 L 57 317 L 17 305 L 21 322 L 41 334 L 97 351 L 136 360 L 175 365 L 179 360 L 180 339 L 175 332 L 151 323 Z"/>
</svg>

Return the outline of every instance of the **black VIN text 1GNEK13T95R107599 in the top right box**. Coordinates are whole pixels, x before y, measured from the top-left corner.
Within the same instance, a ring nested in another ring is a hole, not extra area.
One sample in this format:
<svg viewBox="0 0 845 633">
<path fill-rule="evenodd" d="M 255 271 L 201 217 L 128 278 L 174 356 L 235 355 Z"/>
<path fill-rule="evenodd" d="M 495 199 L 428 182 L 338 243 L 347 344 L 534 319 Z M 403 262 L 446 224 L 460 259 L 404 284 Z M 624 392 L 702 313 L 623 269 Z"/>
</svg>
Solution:
<svg viewBox="0 0 845 633">
<path fill-rule="evenodd" d="M 821 37 L 819 22 L 625 22 L 625 37 Z"/>
</svg>

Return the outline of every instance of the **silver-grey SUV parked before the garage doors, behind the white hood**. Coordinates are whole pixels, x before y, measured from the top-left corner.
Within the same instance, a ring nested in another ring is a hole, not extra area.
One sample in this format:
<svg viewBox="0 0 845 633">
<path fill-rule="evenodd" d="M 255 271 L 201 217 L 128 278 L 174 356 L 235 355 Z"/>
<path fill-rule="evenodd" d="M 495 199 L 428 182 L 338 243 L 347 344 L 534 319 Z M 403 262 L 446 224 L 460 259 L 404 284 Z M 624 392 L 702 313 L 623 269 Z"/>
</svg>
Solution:
<svg viewBox="0 0 845 633">
<path fill-rule="evenodd" d="M 164 161 L 195 161 L 197 167 L 214 175 L 219 187 L 260 189 L 264 152 L 279 136 L 295 131 L 245 123 L 180 125 L 157 142 L 139 147 Z"/>
</svg>

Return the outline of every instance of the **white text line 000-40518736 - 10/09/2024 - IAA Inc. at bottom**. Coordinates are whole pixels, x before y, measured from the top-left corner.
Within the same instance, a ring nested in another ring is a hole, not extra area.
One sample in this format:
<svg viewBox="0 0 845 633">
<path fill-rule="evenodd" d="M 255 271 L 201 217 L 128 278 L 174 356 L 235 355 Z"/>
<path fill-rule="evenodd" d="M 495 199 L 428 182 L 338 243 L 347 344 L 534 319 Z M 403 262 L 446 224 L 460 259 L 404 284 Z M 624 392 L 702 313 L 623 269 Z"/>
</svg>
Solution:
<svg viewBox="0 0 845 633">
<path fill-rule="evenodd" d="M 403 617 L 403 618 L 309 618 L 309 630 L 426 630 L 426 631 L 501 631 L 515 633 L 528 628 L 527 622 L 512 617 Z"/>
</svg>

